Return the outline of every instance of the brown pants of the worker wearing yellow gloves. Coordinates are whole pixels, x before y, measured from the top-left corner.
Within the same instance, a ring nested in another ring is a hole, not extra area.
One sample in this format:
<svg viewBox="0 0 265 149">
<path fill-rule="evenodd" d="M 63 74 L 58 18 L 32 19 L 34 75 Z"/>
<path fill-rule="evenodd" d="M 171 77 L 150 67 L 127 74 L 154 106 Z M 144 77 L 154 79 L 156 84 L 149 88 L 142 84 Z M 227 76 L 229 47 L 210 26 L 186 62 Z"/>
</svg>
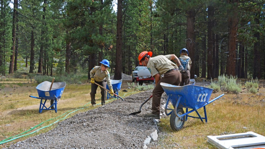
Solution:
<svg viewBox="0 0 265 149">
<path fill-rule="evenodd" d="M 106 81 L 102 81 L 102 82 L 98 82 L 95 81 L 96 83 L 98 83 L 99 85 L 103 86 L 104 88 L 106 88 L 107 86 L 107 82 Z M 98 85 L 91 83 L 91 92 L 90 92 L 90 97 L 91 97 L 91 104 L 95 105 L 96 104 L 96 100 L 95 100 L 95 94 L 97 93 L 97 88 Z M 101 89 L 101 105 L 105 105 L 105 100 L 106 100 L 106 91 L 99 87 Z"/>
</svg>

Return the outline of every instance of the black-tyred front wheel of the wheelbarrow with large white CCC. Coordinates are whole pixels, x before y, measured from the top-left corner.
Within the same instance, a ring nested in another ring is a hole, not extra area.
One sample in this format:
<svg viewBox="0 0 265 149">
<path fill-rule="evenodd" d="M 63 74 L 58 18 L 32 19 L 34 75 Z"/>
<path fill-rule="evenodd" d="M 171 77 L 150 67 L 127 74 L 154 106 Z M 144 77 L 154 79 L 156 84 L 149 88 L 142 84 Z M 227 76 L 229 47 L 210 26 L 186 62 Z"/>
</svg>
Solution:
<svg viewBox="0 0 265 149">
<path fill-rule="evenodd" d="M 178 115 L 182 115 L 184 114 L 184 111 L 182 108 L 177 108 L 177 114 Z M 179 131 L 184 123 L 185 123 L 185 116 L 183 116 L 183 119 L 181 120 L 182 118 L 179 118 L 175 115 L 175 112 L 172 111 L 171 115 L 170 115 L 170 127 L 175 130 L 175 131 Z"/>
</svg>

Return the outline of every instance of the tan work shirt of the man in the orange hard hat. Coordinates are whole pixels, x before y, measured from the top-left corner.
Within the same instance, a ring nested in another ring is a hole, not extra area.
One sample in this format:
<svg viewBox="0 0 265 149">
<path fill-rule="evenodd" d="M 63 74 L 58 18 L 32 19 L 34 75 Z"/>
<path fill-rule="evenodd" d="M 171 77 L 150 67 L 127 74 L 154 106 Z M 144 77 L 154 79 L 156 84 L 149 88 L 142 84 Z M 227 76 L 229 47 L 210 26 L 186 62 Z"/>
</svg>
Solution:
<svg viewBox="0 0 265 149">
<path fill-rule="evenodd" d="M 147 68 L 149 69 L 152 76 L 156 74 L 165 74 L 171 69 L 177 68 L 177 65 L 170 60 L 170 55 L 158 55 L 156 57 L 150 57 Z"/>
</svg>

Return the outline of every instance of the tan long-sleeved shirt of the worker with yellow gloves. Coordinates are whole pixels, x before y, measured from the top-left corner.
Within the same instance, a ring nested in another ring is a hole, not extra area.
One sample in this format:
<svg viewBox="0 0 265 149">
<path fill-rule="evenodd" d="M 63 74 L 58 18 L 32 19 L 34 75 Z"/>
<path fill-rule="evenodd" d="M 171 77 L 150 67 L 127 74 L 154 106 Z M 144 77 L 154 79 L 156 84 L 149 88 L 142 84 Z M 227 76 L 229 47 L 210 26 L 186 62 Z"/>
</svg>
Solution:
<svg viewBox="0 0 265 149">
<path fill-rule="evenodd" d="M 111 85 L 111 78 L 109 76 L 109 71 L 105 70 L 101 72 L 101 66 L 95 66 L 90 71 L 90 78 L 94 78 L 95 81 L 102 82 L 104 80 L 107 80 L 107 84 L 109 86 L 109 89 L 112 89 Z"/>
</svg>

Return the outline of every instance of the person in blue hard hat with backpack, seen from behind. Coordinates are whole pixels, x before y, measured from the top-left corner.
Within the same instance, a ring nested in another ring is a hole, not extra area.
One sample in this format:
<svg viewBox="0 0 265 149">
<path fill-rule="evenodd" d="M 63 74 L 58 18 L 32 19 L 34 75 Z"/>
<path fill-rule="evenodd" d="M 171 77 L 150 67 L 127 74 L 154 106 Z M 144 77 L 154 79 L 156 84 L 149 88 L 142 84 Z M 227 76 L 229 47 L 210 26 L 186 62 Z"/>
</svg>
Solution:
<svg viewBox="0 0 265 149">
<path fill-rule="evenodd" d="M 189 70 L 191 69 L 191 58 L 188 57 L 189 52 L 186 48 L 181 49 L 180 51 L 180 63 L 184 67 L 184 70 L 181 72 L 181 83 L 179 86 L 188 85 L 191 78 Z"/>
</svg>

